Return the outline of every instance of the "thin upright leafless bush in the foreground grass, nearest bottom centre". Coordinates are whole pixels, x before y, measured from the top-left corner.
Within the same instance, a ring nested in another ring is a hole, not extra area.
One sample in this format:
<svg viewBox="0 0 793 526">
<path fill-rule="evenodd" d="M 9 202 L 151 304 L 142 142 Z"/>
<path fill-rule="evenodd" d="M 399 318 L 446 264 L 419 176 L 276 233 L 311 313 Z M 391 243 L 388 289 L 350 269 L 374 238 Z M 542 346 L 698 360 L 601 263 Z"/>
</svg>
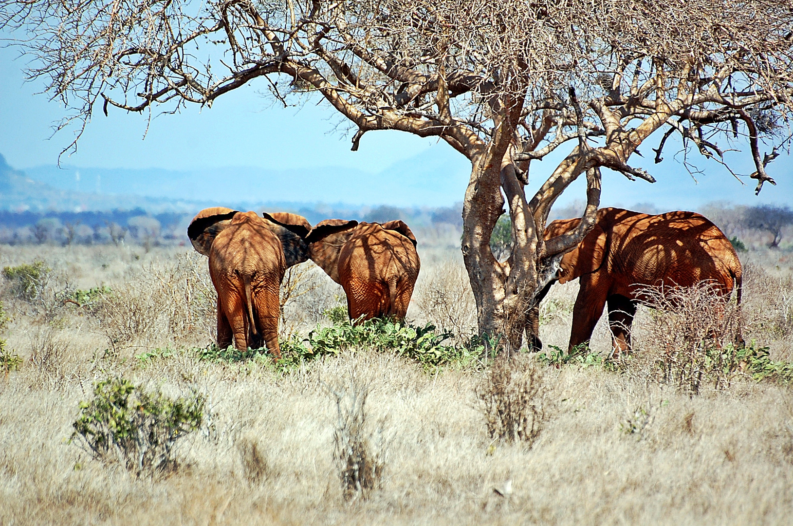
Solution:
<svg viewBox="0 0 793 526">
<path fill-rule="evenodd" d="M 339 470 L 345 500 L 367 499 L 380 486 L 383 447 L 375 447 L 366 430 L 366 398 L 369 386 L 353 379 L 344 389 L 333 390 L 337 410 L 333 432 L 333 459 Z M 377 433 L 382 438 L 382 429 Z"/>
</svg>

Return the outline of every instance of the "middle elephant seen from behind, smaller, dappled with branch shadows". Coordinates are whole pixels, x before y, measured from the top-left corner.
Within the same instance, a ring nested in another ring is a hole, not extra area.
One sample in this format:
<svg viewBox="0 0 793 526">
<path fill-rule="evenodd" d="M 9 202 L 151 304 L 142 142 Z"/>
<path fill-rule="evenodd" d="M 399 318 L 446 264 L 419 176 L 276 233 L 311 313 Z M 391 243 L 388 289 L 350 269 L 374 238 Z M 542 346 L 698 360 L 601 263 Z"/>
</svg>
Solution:
<svg viewBox="0 0 793 526">
<path fill-rule="evenodd" d="M 323 228 L 335 226 L 338 232 Z M 308 235 L 308 253 L 347 294 L 351 319 L 404 319 L 419 276 L 416 236 L 402 221 L 320 221 Z"/>
</svg>

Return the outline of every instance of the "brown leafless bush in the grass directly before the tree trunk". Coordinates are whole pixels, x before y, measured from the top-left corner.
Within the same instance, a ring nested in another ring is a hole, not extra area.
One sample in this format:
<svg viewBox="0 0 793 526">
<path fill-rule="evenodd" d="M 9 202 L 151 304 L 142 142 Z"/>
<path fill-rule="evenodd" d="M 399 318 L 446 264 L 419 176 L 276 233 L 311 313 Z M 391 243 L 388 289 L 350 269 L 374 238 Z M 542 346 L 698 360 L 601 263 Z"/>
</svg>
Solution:
<svg viewBox="0 0 793 526">
<path fill-rule="evenodd" d="M 548 417 L 544 388 L 531 357 L 501 355 L 496 359 L 476 389 L 490 437 L 531 447 Z"/>
</svg>

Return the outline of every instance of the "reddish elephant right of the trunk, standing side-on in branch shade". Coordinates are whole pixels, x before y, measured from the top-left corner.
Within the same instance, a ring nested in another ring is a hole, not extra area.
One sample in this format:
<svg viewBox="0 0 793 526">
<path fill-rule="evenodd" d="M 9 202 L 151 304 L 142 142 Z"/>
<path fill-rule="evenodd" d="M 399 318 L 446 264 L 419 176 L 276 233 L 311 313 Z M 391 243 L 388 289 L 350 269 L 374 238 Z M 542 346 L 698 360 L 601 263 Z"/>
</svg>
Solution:
<svg viewBox="0 0 793 526">
<path fill-rule="evenodd" d="M 553 221 L 545 239 L 577 227 L 580 218 Z M 647 301 L 646 286 L 687 287 L 712 282 L 718 293 L 737 290 L 741 304 L 741 261 L 730 240 L 706 217 L 694 212 L 661 215 L 604 208 L 597 212 L 595 226 L 577 248 L 561 258 L 559 283 L 580 278 L 573 307 L 569 349 L 588 343 L 592 331 L 608 305 L 608 321 L 616 353 L 630 348 L 630 327 L 636 306 Z M 555 280 L 554 280 L 555 281 Z M 539 341 L 538 304 L 550 290 L 550 282 L 535 301 L 527 329 L 535 348 Z M 737 336 L 741 341 L 741 336 Z"/>
</svg>

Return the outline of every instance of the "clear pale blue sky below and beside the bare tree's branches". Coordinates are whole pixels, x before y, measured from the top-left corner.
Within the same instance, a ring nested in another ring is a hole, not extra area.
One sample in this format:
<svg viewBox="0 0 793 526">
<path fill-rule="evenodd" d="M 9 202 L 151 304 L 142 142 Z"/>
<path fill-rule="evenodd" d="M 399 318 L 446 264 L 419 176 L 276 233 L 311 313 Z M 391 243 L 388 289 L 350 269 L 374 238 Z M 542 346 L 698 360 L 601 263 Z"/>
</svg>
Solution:
<svg viewBox="0 0 793 526">
<path fill-rule="evenodd" d="M 17 58 L 18 55 L 14 49 L 0 48 L 0 153 L 11 166 L 24 170 L 56 163 L 59 152 L 71 140 L 71 132 L 59 132 L 49 138 L 52 123 L 63 117 L 64 109 L 57 102 L 49 102 L 46 94 L 35 94 L 42 85 L 24 82 L 25 57 Z M 349 137 L 343 131 L 346 123 L 335 111 L 315 102 L 284 109 L 261 94 L 265 89 L 265 83 L 254 83 L 218 98 L 211 109 L 188 106 L 182 113 L 156 117 L 145 140 L 147 115 L 113 108 L 109 109 L 109 117 L 99 112 L 82 136 L 78 152 L 64 156 L 61 162 L 72 168 L 163 168 L 202 174 L 229 167 L 270 171 L 347 168 L 357 173 L 381 174 L 385 180 L 379 181 L 378 186 L 384 190 L 375 195 L 358 191 L 354 184 L 342 184 L 344 170 L 332 171 L 317 180 L 317 184 L 327 187 L 322 200 L 371 205 L 452 205 L 462 201 L 469 164 L 445 143 L 404 132 L 369 132 L 358 152 L 351 152 Z M 780 155 L 768 169 L 779 185 L 766 184 L 760 198 L 756 198 L 753 181 L 741 186 L 698 154 L 692 158 L 706 168 L 707 175 L 698 175 L 699 182 L 695 182 L 673 159 L 673 144 L 667 145 L 665 162 L 654 165 L 651 148 L 656 142 L 643 145 L 640 150 L 645 158 L 634 156 L 631 162 L 646 167 L 658 182 L 629 182 L 623 175 L 604 171 L 602 205 L 630 207 L 651 202 L 661 209 L 695 209 L 714 201 L 793 203 L 793 174 L 787 154 Z M 752 171 L 746 149 L 741 154 L 728 154 L 740 159 L 737 166 L 743 173 Z M 553 170 L 554 161 L 564 153 L 560 150 L 559 155 L 532 165 L 530 191 Z M 438 173 L 432 178 L 420 174 L 421 170 L 412 174 L 410 160 L 414 158 L 423 166 L 437 167 Z M 446 177 L 448 184 L 439 186 L 439 179 Z M 406 192 L 397 191 L 404 182 L 410 186 L 407 196 Z M 389 187 L 394 191 L 389 191 Z M 427 198 L 423 198 L 422 187 L 427 190 Z M 205 197 L 212 198 L 211 190 L 208 192 Z M 278 192 L 281 194 L 268 197 L 273 201 L 301 201 L 299 188 Z M 315 201 L 316 192 L 311 196 L 310 201 Z M 565 192 L 559 203 L 583 198 L 582 180 Z"/>
</svg>

